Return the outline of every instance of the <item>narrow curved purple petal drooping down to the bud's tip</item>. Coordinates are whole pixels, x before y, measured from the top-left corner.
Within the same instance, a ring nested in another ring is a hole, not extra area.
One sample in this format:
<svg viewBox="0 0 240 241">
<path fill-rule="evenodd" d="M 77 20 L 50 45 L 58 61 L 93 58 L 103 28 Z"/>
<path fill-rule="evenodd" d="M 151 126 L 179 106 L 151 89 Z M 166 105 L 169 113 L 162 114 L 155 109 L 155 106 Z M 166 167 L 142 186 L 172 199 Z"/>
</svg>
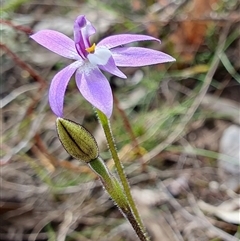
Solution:
<svg viewBox="0 0 240 241">
<path fill-rule="evenodd" d="M 79 62 L 74 62 L 68 65 L 60 72 L 58 72 L 51 82 L 49 88 L 49 104 L 52 111 L 57 116 L 63 116 L 63 102 L 67 85 L 78 67 Z"/>
</svg>

